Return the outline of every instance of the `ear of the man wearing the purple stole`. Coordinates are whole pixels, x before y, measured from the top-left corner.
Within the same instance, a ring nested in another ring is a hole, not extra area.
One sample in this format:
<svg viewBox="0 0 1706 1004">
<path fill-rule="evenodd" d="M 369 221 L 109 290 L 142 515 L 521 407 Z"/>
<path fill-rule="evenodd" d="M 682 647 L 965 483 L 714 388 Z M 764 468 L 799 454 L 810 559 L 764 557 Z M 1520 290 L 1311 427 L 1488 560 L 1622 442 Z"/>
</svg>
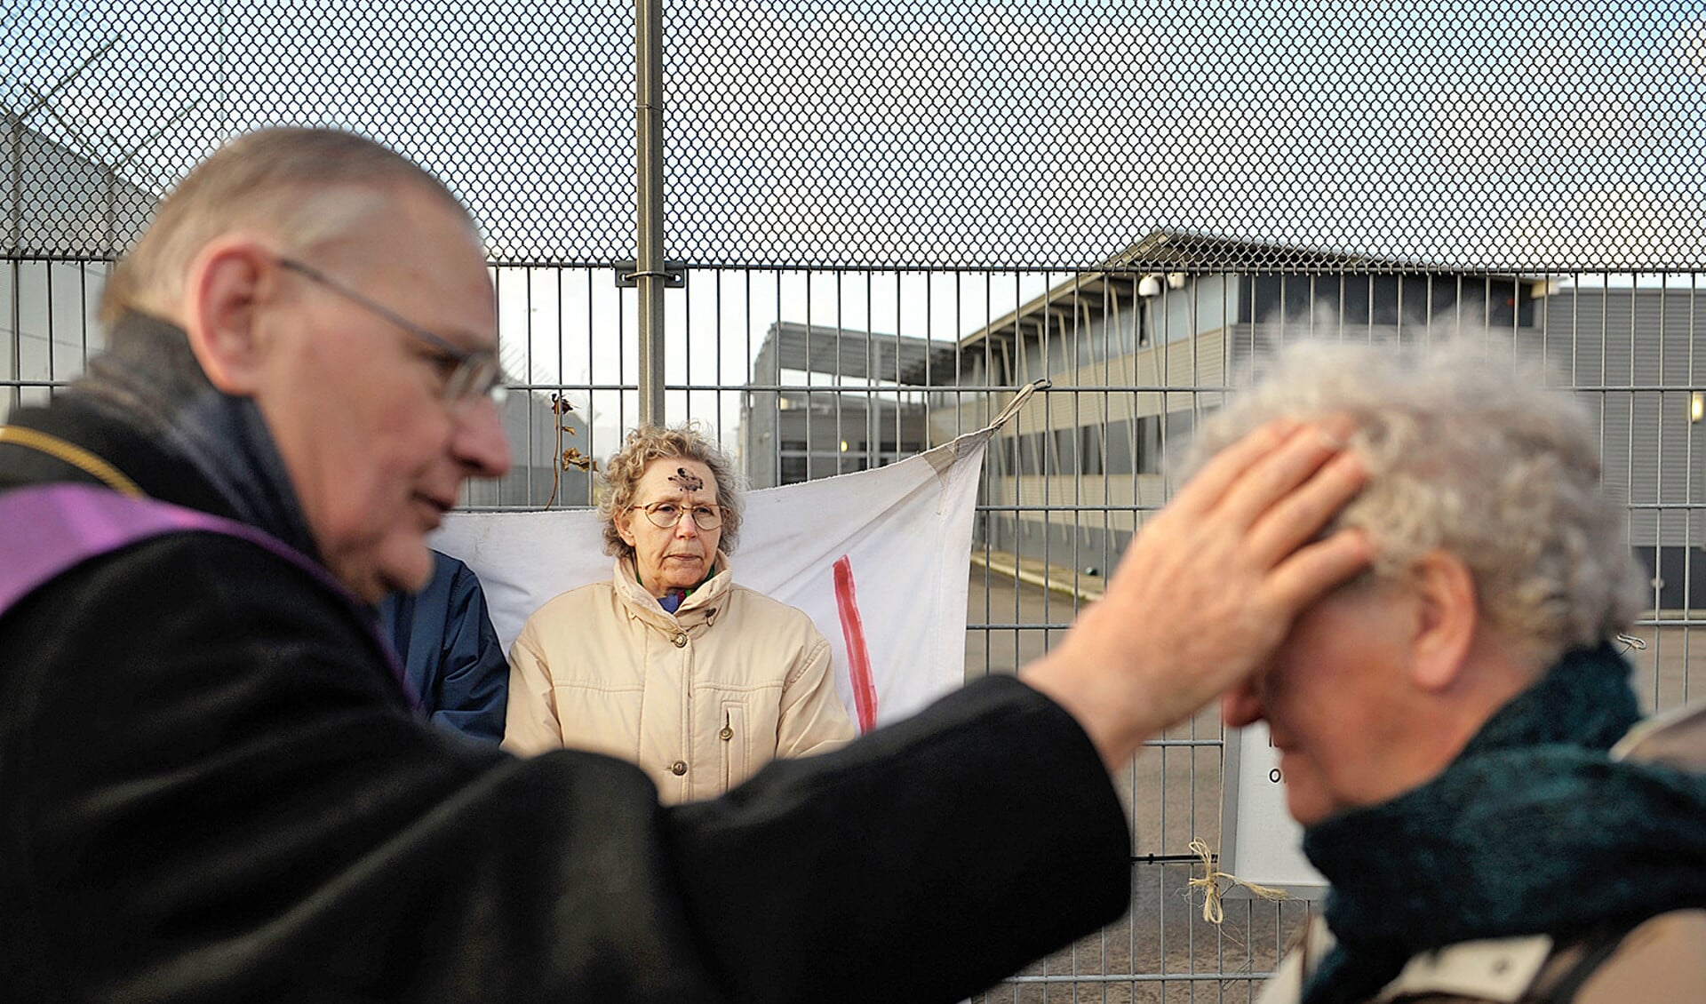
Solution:
<svg viewBox="0 0 1706 1004">
<path fill-rule="evenodd" d="M 266 349 L 261 305 L 276 295 L 273 252 L 249 234 L 213 239 L 184 276 L 183 320 L 208 380 L 237 397 L 259 389 Z"/>
</svg>

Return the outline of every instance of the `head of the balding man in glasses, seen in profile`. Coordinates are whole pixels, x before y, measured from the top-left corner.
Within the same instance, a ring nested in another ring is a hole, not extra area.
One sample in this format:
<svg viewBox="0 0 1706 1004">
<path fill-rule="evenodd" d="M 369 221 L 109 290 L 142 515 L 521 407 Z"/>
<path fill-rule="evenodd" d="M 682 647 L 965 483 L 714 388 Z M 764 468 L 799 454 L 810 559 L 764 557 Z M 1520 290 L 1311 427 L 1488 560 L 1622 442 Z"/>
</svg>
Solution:
<svg viewBox="0 0 1706 1004">
<path fill-rule="evenodd" d="M 508 467 L 491 399 L 452 392 L 498 349 L 474 223 L 362 136 L 239 136 L 160 206 L 101 309 L 181 329 L 174 365 L 200 378 L 176 394 L 254 409 L 321 563 L 367 602 L 420 588 L 462 482 Z M 150 327 L 111 326 L 111 346 Z"/>
</svg>

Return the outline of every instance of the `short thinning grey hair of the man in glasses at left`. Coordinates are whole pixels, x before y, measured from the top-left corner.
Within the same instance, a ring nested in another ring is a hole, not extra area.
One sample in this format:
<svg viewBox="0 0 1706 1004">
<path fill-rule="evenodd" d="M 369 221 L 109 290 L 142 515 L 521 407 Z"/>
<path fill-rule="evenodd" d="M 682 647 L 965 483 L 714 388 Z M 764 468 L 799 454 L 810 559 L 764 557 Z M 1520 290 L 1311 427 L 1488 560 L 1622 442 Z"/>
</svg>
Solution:
<svg viewBox="0 0 1706 1004">
<path fill-rule="evenodd" d="M 101 297 L 107 324 L 125 310 L 171 317 L 189 263 L 220 234 L 256 228 L 302 252 L 363 230 L 399 188 L 444 203 L 479 232 L 437 177 L 401 153 L 339 130 L 259 130 L 220 147 L 160 203 Z"/>
</svg>

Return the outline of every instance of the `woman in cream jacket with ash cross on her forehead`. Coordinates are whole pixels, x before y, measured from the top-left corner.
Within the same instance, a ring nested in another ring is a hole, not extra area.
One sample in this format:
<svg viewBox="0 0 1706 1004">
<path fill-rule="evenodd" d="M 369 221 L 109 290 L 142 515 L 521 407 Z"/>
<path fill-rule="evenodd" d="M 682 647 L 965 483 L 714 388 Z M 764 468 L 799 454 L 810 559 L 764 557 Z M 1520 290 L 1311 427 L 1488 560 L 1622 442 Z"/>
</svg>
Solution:
<svg viewBox="0 0 1706 1004">
<path fill-rule="evenodd" d="M 604 465 L 611 580 L 539 607 L 510 648 L 503 745 L 645 769 L 665 803 L 853 738 L 810 617 L 734 581 L 734 465 L 693 426 L 638 428 Z"/>
</svg>

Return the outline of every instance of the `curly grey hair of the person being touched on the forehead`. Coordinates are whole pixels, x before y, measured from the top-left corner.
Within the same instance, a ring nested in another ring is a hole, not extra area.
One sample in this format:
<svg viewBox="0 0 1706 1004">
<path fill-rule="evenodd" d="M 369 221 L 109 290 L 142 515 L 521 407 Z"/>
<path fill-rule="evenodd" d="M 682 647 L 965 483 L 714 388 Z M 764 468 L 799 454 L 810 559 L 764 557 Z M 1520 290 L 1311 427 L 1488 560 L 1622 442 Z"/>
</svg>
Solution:
<svg viewBox="0 0 1706 1004">
<path fill-rule="evenodd" d="M 1489 626 L 1547 661 L 1634 620 L 1645 576 L 1600 488 L 1593 421 L 1508 349 L 1293 343 L 1203 421 L 1181 474 L 1271 418 L 1329 413 L 1358 423 L 1368 484 L 1336 525 L 1373 537 L 1373 576 L 1443 549 L 1469 568 Z"/>
</svg>

